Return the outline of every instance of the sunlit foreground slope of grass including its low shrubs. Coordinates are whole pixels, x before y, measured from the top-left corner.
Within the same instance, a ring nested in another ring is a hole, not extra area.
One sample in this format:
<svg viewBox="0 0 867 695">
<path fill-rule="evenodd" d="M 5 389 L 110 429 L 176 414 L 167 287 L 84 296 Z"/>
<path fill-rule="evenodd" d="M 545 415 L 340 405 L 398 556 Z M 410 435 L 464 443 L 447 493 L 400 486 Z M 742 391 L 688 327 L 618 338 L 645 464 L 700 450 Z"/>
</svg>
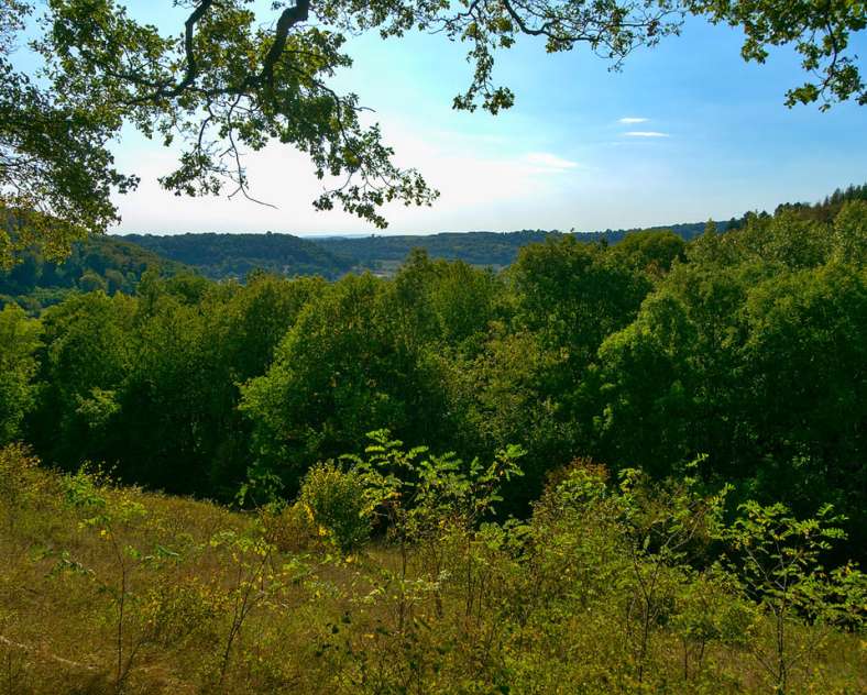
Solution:
<svg viewBox="0 0 867 695">
<path fill-rule="evenodd" d="M 402 533 L 374 519 L 359 534 L 363 511 L 336 512 L 356 474 L 317 471 L 296 505 L 238 512 L 3 450 L 0 693 L 867 688 L 857 606 L 835 627 L 799 611 L 808 578 L 792 575 L 786 607 L 717 563 L 684 564 L 705 553 L 713 516 L 689 490 L 623 492 L 575 464 L 527 523 L 427 523 L 416 495 L 392 517 Z"/>
</svg>

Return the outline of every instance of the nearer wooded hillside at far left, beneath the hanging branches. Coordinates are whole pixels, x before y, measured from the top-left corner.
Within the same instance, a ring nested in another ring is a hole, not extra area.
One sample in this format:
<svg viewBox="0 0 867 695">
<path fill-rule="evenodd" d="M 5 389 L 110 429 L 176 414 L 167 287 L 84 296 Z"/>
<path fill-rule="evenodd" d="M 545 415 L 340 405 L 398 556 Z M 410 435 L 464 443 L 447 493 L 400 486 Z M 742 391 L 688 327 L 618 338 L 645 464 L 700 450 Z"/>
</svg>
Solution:
<svg viewBox="0 0 867 695">
<path fill-rule="evenodd" d="M 39 313 L 74 291 L 132 294 L 147 268 L 175 275 L 185 266 L 117 236 L 92 236 L 74 244 L 61 264 L 46 261 L 37 251 L 25 251 L 10 271 L 0 269 L 0 308 L 15 302 Z"/>
</svg>

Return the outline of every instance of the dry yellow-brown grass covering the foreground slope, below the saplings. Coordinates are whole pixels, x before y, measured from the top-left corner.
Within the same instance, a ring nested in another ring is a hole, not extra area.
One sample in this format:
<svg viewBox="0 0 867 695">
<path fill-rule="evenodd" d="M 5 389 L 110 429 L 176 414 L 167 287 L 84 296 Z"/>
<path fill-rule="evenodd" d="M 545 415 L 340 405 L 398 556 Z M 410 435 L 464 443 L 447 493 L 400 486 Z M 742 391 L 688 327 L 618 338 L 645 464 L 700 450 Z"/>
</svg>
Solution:
<svg viewBox="0 0 867 695">
<path fill-rule="evenodd" d="M 0 694 L 770 692 L 723 646 L 684 680 L 666 629 L 639 684 L 619 605 L 533 598 L 508 553 L 480 552 L 468 604 L 448 538 L 451 578 L 421 581 L 417 553 L 400 585 L 392 549 L 337 558 L 290 512 L 100 488 L 114 516 L 94 522 L 20 450 L 0 475 Z M 793 692 L 867 692 L 865 657 L 831 633 Z"/>
</svg>

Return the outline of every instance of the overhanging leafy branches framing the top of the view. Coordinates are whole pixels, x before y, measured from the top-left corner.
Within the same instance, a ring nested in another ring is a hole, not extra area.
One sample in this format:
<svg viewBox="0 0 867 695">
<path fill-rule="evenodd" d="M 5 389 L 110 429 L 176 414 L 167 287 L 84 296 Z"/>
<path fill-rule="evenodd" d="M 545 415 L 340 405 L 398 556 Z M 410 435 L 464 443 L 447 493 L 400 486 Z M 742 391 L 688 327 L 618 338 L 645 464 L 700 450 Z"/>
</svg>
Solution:
<svg viewBox="0 0 867 695">
<path fill-rule="evenodd" d="M 467 46 L 472 76 L 457 109 L 513 106 L 508 86 L 494 80 L 495 55 L 520 37 L 541 38 L 551 53 L 584 46 L 616 68 L 635 48 L 679 32 L 688 14 L 742 27 L 749 60 L 794 45 L 811 77 L 788 92 L 790 106 L 867 101 L 849 46 L 867 15 L 852 0 L 278 0 L 267 14 L 252 0 L 174 4 L 188 13 L 168 34 L 112 0 L 8 0 L 0 8 L 7 263 L 34 241 L 62 254 L 70 239 L 117 221 L 112 192 L 138 183 L 114 167 L 109 148 L 124 125 L 182 145 L 177 168 L 161 179 L 179 196 L 251 197 L 241 154 L 279 141 L 306 153 L 323 179 L 319 209 L 341 206 L 383 227 L 385 202 L 430 203 L 437 192 L 420 173 L 395 164 L 359 98 L 329 86 L 352 64 L 348 36 L 364 32 L 436 32 Z M 43 64 L 25 70 L 15 48 L 33 34 L 28 45 Z"/>
</svg>

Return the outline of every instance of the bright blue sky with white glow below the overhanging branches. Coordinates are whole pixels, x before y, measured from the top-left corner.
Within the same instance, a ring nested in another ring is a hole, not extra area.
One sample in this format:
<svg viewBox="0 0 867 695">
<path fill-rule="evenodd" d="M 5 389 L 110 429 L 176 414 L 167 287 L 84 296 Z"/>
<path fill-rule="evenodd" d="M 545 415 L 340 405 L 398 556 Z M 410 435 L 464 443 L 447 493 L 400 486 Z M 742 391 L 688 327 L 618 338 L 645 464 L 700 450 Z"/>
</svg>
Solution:
<svg viewBox="0 0 867 695">
<path fill-rule="evenodd" d="M 129 7 L 166 30 L 179 26 L 171 22 L 176 11 L 154 2 Z M 854 44 L 867 53 L 863 34 Z M 793 52 L 775 51 L 755 65 L 744 63 L 739 47 L 737 32 L 693 20 L 682 36 L 610 73 L 580 47 L 550 56 L 526 40 L 503 53 L 497 68 L 517 103 L 491 117 L 451 109 L 470 77 L 461 45 L 441 36 L 371 35 L 348 45 L 355 65 L 334 86 L 374 108 L 398 161 L 441 190 L 430 209 L 388 208 L 385 233 L 727 219 L 867 181 L 867 109 L 788 109 L 786 90 L 803 80 Z M 177 199 L 155 183 L 171 170 L 171 152 L 134 133 L 116 151 L 119 164 L 143 179 L 139 191 L 118 197 L 119 232 L 374 231 L 341 212 L 312 210 L 320 184 L 304 156 L 284 145 L 248 157 L 254 194 L 276 210 Z"/>
</svg>

